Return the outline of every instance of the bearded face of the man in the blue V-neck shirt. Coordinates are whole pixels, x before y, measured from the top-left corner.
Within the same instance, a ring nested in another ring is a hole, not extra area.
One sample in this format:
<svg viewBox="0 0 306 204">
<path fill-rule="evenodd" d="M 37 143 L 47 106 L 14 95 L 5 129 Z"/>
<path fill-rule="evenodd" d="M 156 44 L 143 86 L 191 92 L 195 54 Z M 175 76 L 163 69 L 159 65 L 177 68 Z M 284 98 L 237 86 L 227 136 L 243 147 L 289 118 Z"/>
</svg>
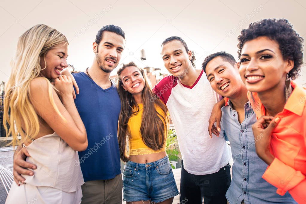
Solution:
<svg viewBox="0 0 306 204">
<path fill-rule="evenodd" d="M 95 60 L 104 72 L 111 72 L 117 67 L 125 46 L 125 39 L 116 33 L 104 31 L 102 39 L 93 43 L 93 50 L 96 53 Z"/>
</svg>

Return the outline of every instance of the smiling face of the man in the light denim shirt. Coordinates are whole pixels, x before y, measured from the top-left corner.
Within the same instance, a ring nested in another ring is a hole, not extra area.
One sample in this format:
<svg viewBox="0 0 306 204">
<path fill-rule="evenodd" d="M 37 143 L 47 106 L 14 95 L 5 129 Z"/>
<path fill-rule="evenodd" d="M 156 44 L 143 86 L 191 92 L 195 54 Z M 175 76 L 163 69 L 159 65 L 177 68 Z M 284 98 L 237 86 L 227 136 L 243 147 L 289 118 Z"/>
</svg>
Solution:
<svg viewBox="0 0 306 204">
<path fill-rule="evenodd" d="M 221 96 L 236 97 L 244 86 L 239 76 L 238 67 L 217 56 L 206 65 L 207 79 L 211 87 Z"/>
</svg>

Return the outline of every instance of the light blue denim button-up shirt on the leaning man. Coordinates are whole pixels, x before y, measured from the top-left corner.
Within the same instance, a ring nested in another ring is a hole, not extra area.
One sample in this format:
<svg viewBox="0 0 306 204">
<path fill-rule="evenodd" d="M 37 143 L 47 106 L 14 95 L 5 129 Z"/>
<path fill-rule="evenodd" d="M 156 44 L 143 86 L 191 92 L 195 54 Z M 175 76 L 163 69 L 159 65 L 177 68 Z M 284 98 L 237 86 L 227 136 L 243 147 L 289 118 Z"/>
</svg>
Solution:
<svg viewBox="0 0 306 204">
<path fill-rule="evenodd" d="M 267 164 L 261 160 L 255 150 L 252 125 L 256 115 L 249 105 L 244 104 L 244 121 L 240 124 L 238 114 L 229 100 L 228 106 L 222 107 L 220 137 L 228 138 L 232 149 L 233 178 L 226 192 L 227 200 L 233 204 L 258 203 L 296 203 L 287 192 L 284 196 L 276 193 L 276 188 L 262 178 Z"/>
</svg>

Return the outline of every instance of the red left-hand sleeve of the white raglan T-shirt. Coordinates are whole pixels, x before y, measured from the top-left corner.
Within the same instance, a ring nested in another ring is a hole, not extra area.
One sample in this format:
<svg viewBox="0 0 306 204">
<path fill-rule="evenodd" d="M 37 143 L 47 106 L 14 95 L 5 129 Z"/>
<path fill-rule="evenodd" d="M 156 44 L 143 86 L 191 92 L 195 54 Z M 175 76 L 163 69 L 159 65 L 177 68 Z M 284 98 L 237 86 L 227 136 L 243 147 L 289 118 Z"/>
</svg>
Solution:
<svg viewBox="0 0 306 204">
<path fill-rule="evenodd" d="M 173 75 L 166 76 L 154 86 L 153 92 L 164 104 L 167 104 L 172 88 L 177 85 L 177 80 Z"/>
</svg>

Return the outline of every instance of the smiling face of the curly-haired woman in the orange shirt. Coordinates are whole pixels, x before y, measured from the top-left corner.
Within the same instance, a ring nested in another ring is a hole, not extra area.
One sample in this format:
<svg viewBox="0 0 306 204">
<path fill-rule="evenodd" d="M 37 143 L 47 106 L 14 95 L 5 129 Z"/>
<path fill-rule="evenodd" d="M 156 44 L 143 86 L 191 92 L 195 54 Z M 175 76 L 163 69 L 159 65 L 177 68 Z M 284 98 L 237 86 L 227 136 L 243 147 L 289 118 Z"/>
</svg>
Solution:
<svg viewBox="0 0 306 204">
<path fill-rule="evenodd" d="M 239 73 L 247 89 L 264 92 L 285 86 L 293 60 L 284 60 L 276 41 L 265 36 L 244 43 L 241 49 Z"/>
</svg>

